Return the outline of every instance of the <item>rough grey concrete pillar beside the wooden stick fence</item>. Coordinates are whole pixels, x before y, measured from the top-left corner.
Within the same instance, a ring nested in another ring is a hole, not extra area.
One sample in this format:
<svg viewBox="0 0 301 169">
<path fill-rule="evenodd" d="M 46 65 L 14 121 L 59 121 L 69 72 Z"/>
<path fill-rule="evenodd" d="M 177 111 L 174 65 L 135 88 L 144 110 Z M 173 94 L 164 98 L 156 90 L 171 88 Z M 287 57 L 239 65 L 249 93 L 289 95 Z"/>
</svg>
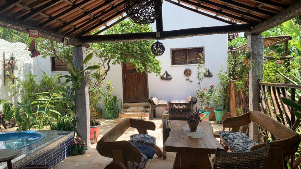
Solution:
<svg viewBox="0 0 301 169">
<path fill-rule="evenodd" d="M 249 59 L 249 107 L 250 111 L 259 111 L 259 88 L 258 82 L 263 72 L 263 38 L 262 35 L 247 35 Z M 250 139 L 259 143 L 259 126 L 250 124 Z"/>
</svg>

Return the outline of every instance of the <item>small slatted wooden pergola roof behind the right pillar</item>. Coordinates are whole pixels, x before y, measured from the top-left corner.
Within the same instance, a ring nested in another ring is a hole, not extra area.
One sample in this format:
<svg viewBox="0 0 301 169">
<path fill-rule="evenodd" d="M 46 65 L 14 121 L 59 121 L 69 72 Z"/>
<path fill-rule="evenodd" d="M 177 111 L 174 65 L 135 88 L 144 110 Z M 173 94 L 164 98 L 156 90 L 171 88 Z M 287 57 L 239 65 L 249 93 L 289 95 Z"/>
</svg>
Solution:
<svg viewBox="0 0 301 169">
<path fill-rule="evenodd" d="M 292 37 L 290 37 L 289 35 L 263 37 L 263 47 L 268 48 L 271 46 L 281 44 L 285 41 L 289 41 L 291 39 L 292 39 Z M 247 45 L 248 44 L 245 43 L 244 45 L 241 45 L 240 47 L 233 48 L 232 52 L 240 51 L 244 48 L 247 48 Z"/>
</svg>

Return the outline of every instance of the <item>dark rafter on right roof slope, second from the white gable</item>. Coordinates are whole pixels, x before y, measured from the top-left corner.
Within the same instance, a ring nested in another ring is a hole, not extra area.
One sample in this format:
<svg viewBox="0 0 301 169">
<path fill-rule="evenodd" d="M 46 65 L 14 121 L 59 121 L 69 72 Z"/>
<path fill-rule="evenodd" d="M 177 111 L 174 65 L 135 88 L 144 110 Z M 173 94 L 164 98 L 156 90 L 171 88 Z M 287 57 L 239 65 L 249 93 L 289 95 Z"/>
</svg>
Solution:
<svg viewBox="0 0 301 169">
<path fill-rule="evenodd" d="M 254 21 L 249 20 L 249 19 L 245 19 L 245 18 L 242 18 L 242 17 L 238 17 L 238 16 L 236 16 L 236 15 L 228 14 L 227 12 L 219 11 L 219 10 L 217 10 L 217 9 L 207 7 L 207 6 L 205 6 L 205 5 L 201 5 L 201 4 L 192 2 L 192 1 L 190 1 L 190 0 L 181 0 L 181 1 L 182 1 L 182 2 L 185 2 L 185 3 L 188 3 L 188 4 L 190 4 L 190 5 L 193 5 L 193 6 L 197 6 L 197 7 L 199 7 L 199 8 L 205 9 L 205 10 L 209 10 L 209 11 L 215 12 L 215 13 L 217 13 L 217 14 L 225 15 L 225 16 L 227 16 L 227 17 L 230 17 L 230 18 L 233 18 L 233 19 L 236 19 L 236 20 L 241 20 L 241 21 L 246 22 L 246 23 L 251 23 L 251 24 L 254 24 L 254 25 L 257 25 L 257 24 L 258 24 L 258 22 L 254 22 Z"/>
</svg>

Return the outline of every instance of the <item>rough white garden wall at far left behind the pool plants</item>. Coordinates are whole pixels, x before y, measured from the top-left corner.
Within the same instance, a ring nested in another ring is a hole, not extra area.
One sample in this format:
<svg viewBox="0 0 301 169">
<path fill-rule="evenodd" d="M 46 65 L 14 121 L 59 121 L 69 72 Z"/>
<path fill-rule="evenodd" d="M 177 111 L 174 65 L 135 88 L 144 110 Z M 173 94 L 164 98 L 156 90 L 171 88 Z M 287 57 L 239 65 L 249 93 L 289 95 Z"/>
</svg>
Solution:
<svg viewBox="0 0 301 169">
<path fill-rule="evenodd" d="M 38 64 L 37 58 L 31 58 L 30 52 L 27 51 L 26 44 L 23 43 L 10 43 L 3 39 L 0 39 L 0 62 L 3 63 L 2 54 L 5 52 L 5 59 L 10 59 L 12 54 L 17 60 L 17 68 L 18 70 L 14 70 L 15 77 L 20 80 L 24 80 L 26 78 L 26 73 L 33 73 L 34 75 L 38 74 Z M 8 62 L 8 61 L 5 61 Z M 3 100 L 11 100 L 13 103 L 20 102 L 21 93 L 12 97 L 12 89 L 8 86 L 8 81 L 12 81 L 11 79 L 6 79 L 6 85 L 4 86 L 4 71 L 3 64 L 0 66 L 0 99 Z M 16 81 L 16 79 L 15 79 Z"/>
</svg>

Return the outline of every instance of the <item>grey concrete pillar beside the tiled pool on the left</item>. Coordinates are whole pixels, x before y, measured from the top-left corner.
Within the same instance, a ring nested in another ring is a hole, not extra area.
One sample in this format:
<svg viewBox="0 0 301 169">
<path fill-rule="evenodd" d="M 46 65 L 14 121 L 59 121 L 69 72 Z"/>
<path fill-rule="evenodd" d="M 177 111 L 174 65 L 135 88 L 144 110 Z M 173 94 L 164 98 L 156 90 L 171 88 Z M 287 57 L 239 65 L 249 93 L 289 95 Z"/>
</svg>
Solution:
<svg viewBox="0 0 301 169">
<path fill-rule="evenodd" d="M 79 67 L 84 58 L 85 47 L 74 46 L 73 47 L 73 61 L 74 66 Z M 83 68 L 86 65 L 83 65 Z M 81 70 L 83 69 L 81 68 Z M 89 109 L 89 88 L 86 80 L 86 73 L 81 80 L 80 90 L 75 91 L 76 95 L 76 117 L 77 117 L 77 131 L 83 140 L 86 142 L 86 148 L 91 147 L 90 143 L 90 109 Z"/>
</svg>

